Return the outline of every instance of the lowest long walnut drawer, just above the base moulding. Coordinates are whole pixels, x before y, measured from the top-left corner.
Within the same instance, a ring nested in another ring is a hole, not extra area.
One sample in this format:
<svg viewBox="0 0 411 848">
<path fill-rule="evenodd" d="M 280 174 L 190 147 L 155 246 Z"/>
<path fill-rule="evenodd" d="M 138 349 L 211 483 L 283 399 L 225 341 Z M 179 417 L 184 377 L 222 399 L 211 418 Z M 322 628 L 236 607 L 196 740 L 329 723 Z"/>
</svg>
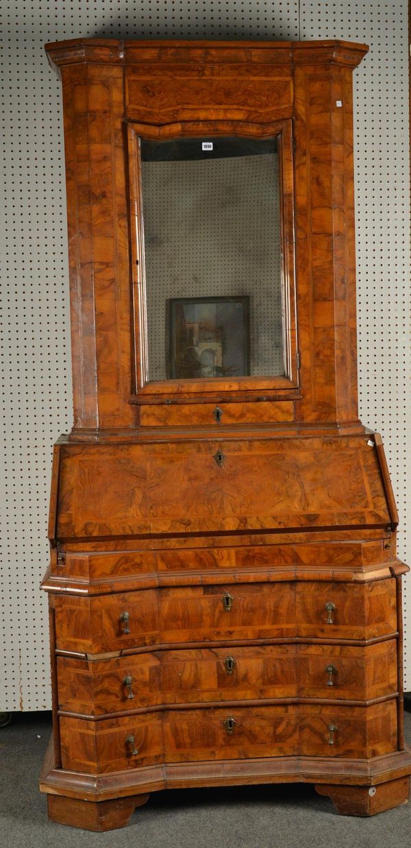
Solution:
<svg viewBox="0 0 411 848">
<path fill-rule="evenodd" d="M 395 700 L 369 707 L 227 706 L 59 721 L 63 767 L 92 774 L 158 762 L 298 754 L 369 759 L 397 747 Z"/>
</svg>

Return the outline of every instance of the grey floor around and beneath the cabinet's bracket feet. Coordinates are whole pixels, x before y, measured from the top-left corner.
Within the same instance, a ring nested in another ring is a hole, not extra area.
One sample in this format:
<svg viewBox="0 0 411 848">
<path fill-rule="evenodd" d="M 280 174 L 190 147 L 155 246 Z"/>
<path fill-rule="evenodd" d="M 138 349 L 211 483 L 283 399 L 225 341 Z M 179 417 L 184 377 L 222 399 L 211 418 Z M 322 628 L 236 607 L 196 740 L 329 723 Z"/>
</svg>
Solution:
<svg viewBox="0 0 411 848">
<path fill-rule="evenodd" d="M 411 848 L 410 804 L 342 817 L 304 784 L 154 793 L 126 828 L 106 834 L 53 824 L 37 788 L 50 732 L 49 713 L 14 714 L 0 729 L 2 848 Z M 409 744 L 409 704 L 406 734 Z"/>
</svg>

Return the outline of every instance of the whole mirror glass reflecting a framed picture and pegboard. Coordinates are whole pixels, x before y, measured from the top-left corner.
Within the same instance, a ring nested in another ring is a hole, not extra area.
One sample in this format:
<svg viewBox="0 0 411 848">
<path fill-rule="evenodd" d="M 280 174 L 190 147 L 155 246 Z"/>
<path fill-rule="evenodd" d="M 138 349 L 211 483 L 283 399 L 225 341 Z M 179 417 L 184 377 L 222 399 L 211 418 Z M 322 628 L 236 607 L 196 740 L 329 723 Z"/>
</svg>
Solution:
<svg viewBox="0 0 411 848">
<path fill-rule="evenodd" d="M 148 378 L 283 375 L 276 138 L 141 139 Z"/>
</svg>

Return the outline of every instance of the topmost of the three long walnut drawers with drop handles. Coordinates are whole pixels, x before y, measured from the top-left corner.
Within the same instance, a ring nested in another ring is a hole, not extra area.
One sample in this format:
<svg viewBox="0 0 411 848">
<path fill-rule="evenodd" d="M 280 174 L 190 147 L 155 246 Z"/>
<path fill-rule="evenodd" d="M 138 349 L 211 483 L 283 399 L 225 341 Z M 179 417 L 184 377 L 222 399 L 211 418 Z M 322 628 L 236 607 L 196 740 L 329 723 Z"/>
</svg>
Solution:
<svg viewBox="0 0 411 848">
<path fill-rule="evenodd" d="M 231 640 L 377 639 L 397 630 L 395 583 L 256 582 L 56 595 L 57 649 L 100 654 Z"/>
</svg>

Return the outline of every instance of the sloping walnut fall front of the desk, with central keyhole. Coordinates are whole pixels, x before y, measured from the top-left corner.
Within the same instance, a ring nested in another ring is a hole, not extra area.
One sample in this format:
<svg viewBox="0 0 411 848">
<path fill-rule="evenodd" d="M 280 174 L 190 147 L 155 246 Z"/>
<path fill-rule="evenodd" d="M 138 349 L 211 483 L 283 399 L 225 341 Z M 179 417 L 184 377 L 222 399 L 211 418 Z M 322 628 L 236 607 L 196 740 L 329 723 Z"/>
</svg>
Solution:
<svg viewBox="0 0 411 848">
<path fill-rule="evenodd" d="M 376 451 L 366 438 L 73 444 L 61 450 L 58 538 L 390 521 Z"/>
</svg>

